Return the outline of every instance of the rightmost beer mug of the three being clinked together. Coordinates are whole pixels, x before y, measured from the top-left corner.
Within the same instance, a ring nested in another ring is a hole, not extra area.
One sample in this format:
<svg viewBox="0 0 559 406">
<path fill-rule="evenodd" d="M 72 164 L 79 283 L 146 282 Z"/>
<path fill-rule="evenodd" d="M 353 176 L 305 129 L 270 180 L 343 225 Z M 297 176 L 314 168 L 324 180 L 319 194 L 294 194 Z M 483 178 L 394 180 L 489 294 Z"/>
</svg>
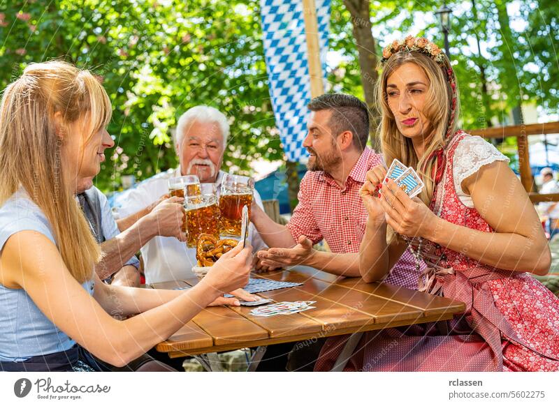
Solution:
<svg viewBox="0 0 559 406">
<path fill-rule="evenodd" d="M 219 196 L 220 234 L 222 236 L 240 236 L 242 206 L 250 206 L 254 191 L 254 179 L 248 176 L 224 174 L 222 191 Z"/>
</svg>

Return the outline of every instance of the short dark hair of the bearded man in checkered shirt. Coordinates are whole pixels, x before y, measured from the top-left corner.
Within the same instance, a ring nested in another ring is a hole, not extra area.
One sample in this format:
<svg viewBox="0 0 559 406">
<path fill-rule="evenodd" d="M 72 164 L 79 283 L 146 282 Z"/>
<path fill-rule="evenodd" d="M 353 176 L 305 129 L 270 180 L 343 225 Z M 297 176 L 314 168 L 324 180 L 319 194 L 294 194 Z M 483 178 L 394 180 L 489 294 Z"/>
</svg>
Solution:
<svg viewBox="0 0 559 406">
<path fill-rule="evenodd" d="M 333 135 L 351 131 L 354 145 L 359 151 L 365 149 L 369 140 L 369 110 L 361 100 L 345 93 L 325 93 L 310 100 L 307 107 L 312 112 L 331 110 L 328 125 Z"/>
</svg>

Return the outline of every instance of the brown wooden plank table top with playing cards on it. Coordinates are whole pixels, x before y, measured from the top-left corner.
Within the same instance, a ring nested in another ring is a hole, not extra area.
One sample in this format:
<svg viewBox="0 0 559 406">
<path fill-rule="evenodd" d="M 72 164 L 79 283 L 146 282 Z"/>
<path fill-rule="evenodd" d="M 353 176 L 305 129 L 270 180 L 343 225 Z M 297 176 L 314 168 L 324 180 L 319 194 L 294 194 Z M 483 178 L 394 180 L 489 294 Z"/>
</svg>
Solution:
<svg viewBox="0 0 559 406">
<path fill-rule="evenodd" d="M 465 311 L 464 303 L 459 301 L 386 283 L 365 283 L 361 278 L 341 278 L 306 266 L 252 277 L 303 283 L 258 295 L 276 302 L 316 301 L 312 305 L 315 308 L 272 317 L 252 316 L 253 307 L 249 306 L 205 308 L 159 343 L 157 350 L 168 352 L 172 358 L 229 351 L 447 320 Z M 189 288 L 196 283 L 196 278 L 190 278 L 150 287 Z"/>
</svg>

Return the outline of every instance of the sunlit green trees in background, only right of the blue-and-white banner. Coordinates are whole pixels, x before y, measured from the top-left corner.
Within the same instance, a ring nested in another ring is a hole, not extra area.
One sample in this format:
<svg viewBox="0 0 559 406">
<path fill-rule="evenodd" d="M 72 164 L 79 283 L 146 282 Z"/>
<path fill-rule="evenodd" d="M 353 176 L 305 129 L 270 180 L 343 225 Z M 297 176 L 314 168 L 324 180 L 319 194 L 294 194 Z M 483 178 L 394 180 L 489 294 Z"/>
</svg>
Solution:
<svg viewBox="0 0 559 406">
<path fill-rule="evenodd" d="M 367 1 L 367 0 L 352 0 Z M 363 95 L 351 15 L 333 0 L 331 49 L 341 61 L 331 71 L 333 89 Z M 473 4 L 476 8 L 473 8 Z M 450 57 L 460 85 L 464 128 L 509 124 L 519 103 L 535 102 L 556 113 L 559 98 L 559 6 L 556 0 L 447 1 Z M 444 46 L 435 17 L 442 1 L 371 1 L 372 33 L 382 47 L 408 33 Z M 479 50 L 477 43 L 480 44 Z M 484 87 L 485 84 L 485 87 Z"/>
</svg>

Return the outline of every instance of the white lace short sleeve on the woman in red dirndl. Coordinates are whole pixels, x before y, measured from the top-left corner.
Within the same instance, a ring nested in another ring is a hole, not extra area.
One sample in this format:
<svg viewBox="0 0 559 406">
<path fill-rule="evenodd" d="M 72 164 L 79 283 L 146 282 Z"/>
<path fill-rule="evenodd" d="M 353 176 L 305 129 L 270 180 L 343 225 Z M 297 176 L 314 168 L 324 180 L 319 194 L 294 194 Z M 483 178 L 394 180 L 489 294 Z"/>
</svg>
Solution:
<svg viewBox="0 0 559 406">
<path fill-rule="evenodd" d="M 477 135 L 461 140 L 454 152 L 452 168 L 454 187 L 458 196 L 465 195 L 461 186 L 464 179 L 479 171 L 482 166 L 496 160 L 509 162 L 509 158 L 500 153 L 495 146 Z"/>
</svg>

